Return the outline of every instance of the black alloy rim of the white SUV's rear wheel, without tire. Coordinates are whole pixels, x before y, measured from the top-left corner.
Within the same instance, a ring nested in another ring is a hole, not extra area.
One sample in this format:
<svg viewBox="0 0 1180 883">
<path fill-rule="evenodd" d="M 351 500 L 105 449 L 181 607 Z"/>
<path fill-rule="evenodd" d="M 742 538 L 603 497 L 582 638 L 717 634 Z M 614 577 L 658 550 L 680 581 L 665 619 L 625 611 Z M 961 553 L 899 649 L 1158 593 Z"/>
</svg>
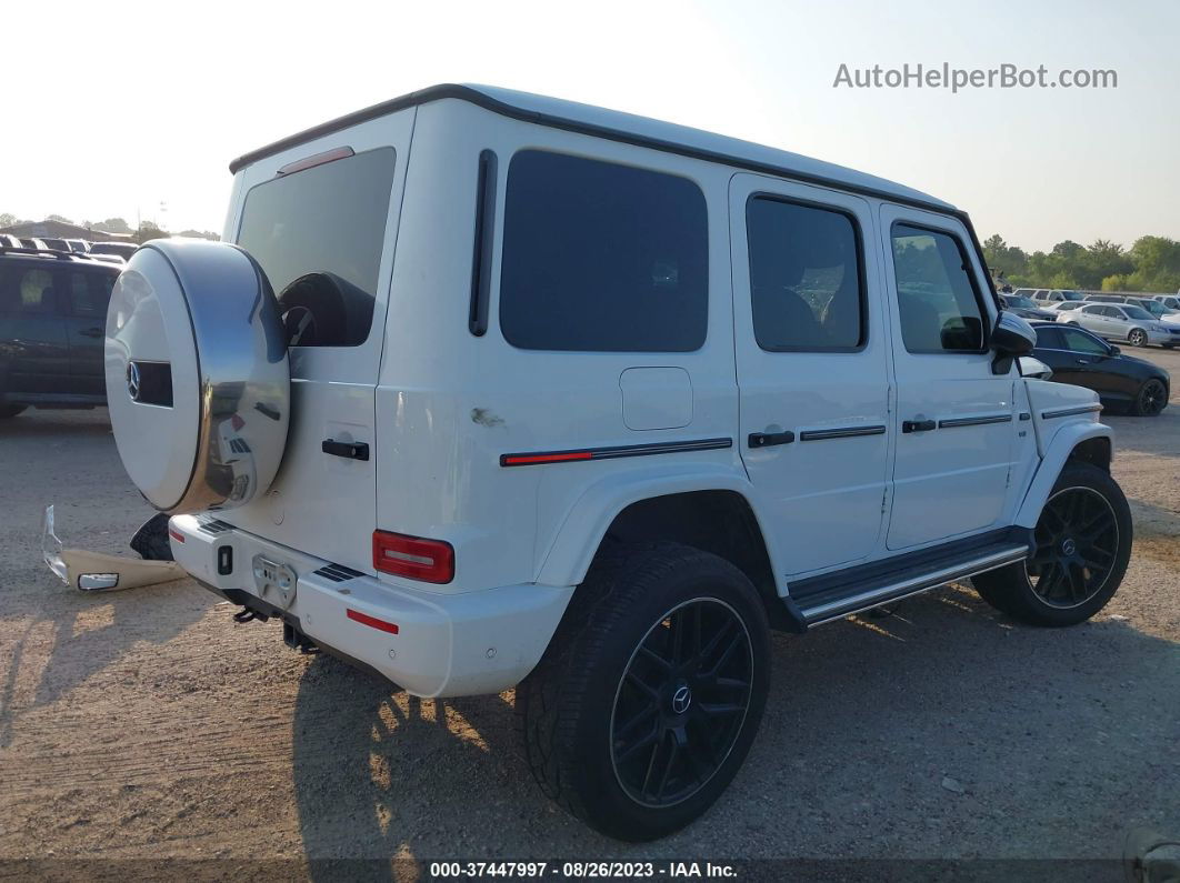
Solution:
<svg viewBox="0 0 1180 883">
<path fill-rule="evenodd" d="M 696 598 L 653 625 L 611 713 L 611 759 L 627 795 L 664 808 L 700 791 L 741 733 L 753 677 L 750 635 L 725 601 Z"/>
</svg>

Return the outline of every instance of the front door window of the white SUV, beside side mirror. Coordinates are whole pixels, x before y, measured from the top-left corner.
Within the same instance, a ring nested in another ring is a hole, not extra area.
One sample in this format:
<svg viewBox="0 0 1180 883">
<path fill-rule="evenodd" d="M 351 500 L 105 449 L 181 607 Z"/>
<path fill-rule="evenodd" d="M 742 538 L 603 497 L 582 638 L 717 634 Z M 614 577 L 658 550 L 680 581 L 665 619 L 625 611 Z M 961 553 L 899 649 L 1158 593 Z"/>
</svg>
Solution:
<svg viewBox="0 0 1180 883">
<path fill-rule="evenodd" d="M 936 230 L 893 225 L 902 338 L 910 352 L 981 352 L 983 311 L 958 239 Z"/>
</svg>

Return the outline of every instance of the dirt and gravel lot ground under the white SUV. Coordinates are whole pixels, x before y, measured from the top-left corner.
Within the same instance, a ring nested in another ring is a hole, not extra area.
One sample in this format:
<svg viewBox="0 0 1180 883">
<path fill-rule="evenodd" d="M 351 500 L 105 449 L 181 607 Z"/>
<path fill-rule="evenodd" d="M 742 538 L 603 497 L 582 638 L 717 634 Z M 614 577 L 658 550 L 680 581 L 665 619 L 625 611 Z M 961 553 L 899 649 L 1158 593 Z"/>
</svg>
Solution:
<svg viewBox="0 0 1180 883">
<path fill-rule="evenodd" d="M 1149 357 L 1180 380 L 1180 354 Z M 274 622 L 235 625 L 188 580 L 59 585 L 40 561 L 45 503 L 67 543 L 110 552 L 150 512 L 105 411 L 27 413 L 0 427 L 0 858 L 321 876 L 317 859 L 393 856 L 1108 858 L 1133 825 L 1180 832 L 1178 391 L 1159 419 L 1108 417 L 1138 536 L 1095 621 L 1027 628 L 950 587 L 775 637 L 736 782 L 640 846 L 539 795 L 513 753 L 511 693 L 393 693 L 287 650 Z"/>
</svg>

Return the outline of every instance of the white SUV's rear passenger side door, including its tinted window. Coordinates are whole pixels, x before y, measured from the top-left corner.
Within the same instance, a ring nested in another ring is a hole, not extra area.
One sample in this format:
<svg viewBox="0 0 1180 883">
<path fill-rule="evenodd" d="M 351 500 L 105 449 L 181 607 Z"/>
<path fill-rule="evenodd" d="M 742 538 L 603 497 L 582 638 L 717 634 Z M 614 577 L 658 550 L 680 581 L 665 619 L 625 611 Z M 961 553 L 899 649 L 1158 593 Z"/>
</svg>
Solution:
<svg viewBox="0 0 1180 883">
<path fill-rule="evenodd" d="M 892 439 L 872 213 L 753 174 L 729 203 L 742 460 L 786 575 L 847 565 L 877 545 Z"/>
</svg>

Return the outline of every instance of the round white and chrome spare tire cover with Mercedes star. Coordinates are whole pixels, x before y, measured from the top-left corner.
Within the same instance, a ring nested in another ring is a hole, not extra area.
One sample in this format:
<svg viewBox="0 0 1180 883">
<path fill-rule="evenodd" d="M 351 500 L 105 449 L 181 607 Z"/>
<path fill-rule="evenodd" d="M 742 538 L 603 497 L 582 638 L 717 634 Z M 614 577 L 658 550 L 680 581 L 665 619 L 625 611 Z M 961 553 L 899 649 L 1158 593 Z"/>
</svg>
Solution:
<svg viewBox="0 0 1180 883">
<path fill-rule="evenodd" d="M 243 506 L 270 487 L 290 413 L 274 292 L 235 245 L 156 239 L 106 314 L 106 398 L 119 456 L 171 514 Z"/>
</svg>

